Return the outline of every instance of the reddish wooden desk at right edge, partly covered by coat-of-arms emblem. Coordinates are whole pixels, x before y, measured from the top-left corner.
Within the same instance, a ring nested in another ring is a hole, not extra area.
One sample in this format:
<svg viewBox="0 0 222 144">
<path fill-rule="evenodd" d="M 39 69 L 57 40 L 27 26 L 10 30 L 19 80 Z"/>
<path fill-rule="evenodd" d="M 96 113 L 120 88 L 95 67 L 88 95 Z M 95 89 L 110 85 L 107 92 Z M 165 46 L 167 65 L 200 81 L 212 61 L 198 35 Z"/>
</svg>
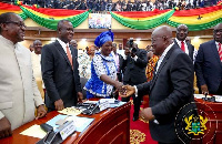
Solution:
<svg viewBox="0 0 222 144">
<path fill-rule="evenodd" d="M 221 144 L 222 143 L 222 103 L 206 102 L 195 99 L 196 106 L 202 111 L 203 117 L 208 117 L 206 131 L 209 132 L 201 141 L 195 144 Z"/>
</svg>

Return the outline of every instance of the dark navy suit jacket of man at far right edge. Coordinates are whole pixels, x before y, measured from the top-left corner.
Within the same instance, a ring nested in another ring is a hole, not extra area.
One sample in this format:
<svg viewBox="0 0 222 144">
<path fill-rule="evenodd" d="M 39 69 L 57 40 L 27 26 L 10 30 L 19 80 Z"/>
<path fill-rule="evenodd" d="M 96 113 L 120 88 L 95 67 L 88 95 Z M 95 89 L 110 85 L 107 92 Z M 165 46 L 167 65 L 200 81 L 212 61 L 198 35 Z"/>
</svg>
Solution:
<svg viewBox="0 0 222 144">
<path fill-rule="evenodd" d="M 194 65 L 199 89 L 206 84 L 209 92 L 215 94 L 222 80 L 222 62 L 214 40 L 200 45 Z"/>
</svg>

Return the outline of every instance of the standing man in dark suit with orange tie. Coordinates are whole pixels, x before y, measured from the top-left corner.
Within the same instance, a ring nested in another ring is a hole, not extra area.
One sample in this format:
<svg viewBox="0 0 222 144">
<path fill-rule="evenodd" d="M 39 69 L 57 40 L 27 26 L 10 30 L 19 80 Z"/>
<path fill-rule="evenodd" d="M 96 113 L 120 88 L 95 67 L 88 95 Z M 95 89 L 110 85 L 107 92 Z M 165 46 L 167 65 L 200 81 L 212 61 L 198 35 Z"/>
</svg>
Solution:
<svg viewBox="0 0 222 144">
<path fill-rule="evenodd" d="M 69 42 L 73 27 L 68 20 L 58 23 L 56 42 L 42 48 L 41 70 L 46 85 L 46 105 L 49 111 L 73 106 L 83 97 L 77 61 L 78 50 Z"/>
</svg>

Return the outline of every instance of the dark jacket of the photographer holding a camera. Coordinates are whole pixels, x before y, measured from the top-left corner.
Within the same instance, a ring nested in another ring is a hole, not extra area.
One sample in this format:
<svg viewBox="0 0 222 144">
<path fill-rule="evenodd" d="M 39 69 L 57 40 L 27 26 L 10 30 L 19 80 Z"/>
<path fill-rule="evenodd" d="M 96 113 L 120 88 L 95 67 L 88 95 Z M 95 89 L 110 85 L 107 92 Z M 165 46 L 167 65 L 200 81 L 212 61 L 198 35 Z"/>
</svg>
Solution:
<svg viewBox="0 0 222 144">
<path fill-rule="evenodd" d="M 140 84 L 147 82 L 145 68 L 148 65 L 147 51 L 138 49 L 135 55 L 138 60 L 134 61 L 130 55 L 127 60 L 123 60 L 124 70 L 123 83 L 127 84 Z"/>
</svg>

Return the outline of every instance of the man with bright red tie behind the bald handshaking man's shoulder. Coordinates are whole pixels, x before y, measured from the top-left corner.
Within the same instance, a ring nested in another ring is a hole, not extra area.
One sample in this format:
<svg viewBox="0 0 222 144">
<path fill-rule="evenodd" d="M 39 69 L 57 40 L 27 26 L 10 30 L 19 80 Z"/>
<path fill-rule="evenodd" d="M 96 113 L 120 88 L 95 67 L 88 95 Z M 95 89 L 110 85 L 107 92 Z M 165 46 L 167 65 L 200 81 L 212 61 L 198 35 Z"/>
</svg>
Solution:
<svg viewBox="0 0 222 144">
<path fill-rule="evenodd" d="M 191 43 L 185 42 L 188 33 L 188 27 L 185 24 L 180 24 L 176 28 L 176 38 L 174 39 L 174 43 L 178 44 L 178 47 L 181 48 L 181 50 L 184 51 L 193 61 L 194 47 Z"/>
</svg>

